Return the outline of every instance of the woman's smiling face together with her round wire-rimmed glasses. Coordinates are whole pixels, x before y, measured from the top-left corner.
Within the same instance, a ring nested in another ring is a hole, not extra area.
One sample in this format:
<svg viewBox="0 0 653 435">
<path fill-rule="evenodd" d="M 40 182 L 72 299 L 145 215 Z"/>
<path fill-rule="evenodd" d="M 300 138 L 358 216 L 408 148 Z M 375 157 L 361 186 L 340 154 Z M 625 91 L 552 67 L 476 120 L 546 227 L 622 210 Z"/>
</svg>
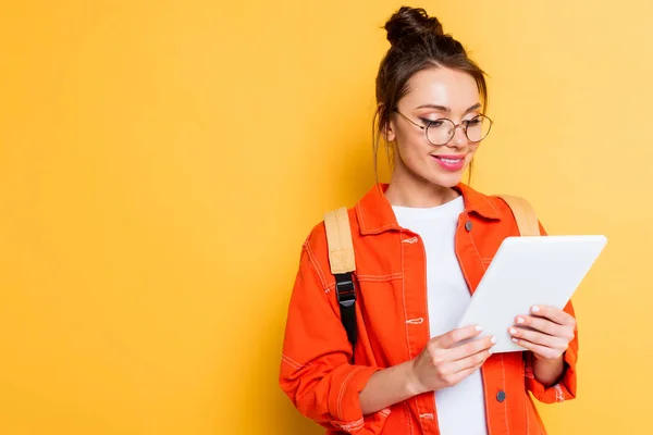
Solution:
<svg viewBox="0 0 653 435">
<path fill-rule="evenodd" d="M 399 116 L 391 117 L 383 129 L 385 140 L 396 144 L 399 157 L 393 160 L 396 182 L 391 181 L 387 195 L 394 195 L 397 186 L 407 187 L 420 179 L 427 185 L 453 187 L 491 125 L 480 113 L 477 84 L 466 72 L 431 66 L 414 74 L 404 86 L 408 91 L 394 110 Z M 426 136 L 406 122 L 424 130 Z M 458 127 L 461 134 L 456 134 Z M 422 156 L 428 156 L 426 161 Z"/>
</svg>

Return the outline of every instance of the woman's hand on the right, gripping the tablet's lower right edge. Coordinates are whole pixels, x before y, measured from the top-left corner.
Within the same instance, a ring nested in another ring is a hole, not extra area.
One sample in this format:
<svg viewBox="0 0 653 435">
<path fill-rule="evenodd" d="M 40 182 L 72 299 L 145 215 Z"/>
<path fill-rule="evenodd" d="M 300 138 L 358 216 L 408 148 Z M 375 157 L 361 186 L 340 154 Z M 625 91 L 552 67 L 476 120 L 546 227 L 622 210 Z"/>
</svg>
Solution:
<svg viewBox="0 0 653 435">
<path fill-rule="evenodd" d="M 508 330 L 513 341 L 544 361 L 562 360 L 574 339 L 576 319 L 554 307 L 535 306 L 531 315 L 518 315 Z"/>
</svg>

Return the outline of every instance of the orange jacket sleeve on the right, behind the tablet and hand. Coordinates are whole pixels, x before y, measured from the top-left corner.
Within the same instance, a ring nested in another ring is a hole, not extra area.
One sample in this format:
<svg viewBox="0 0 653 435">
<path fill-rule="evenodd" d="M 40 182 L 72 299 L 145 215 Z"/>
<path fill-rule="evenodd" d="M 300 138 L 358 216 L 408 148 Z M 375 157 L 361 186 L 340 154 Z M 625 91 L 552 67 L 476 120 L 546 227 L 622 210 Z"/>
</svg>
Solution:
<svg viewBox="0 0 653 435">
<path fill-rule="evenodd" d="M 540 232 L 543 235 L 546 235 L 546 232 L 544 231 L 541 224 Z M 564 310 L 567 313 L 571 314 L 574 318 L 576 318 L 571 301 L 567 303 Z M 563 373 L 563 376 L 560 377 L 560 381 L 557 384 L 551 387 L 545 387 L 541 382 L 535 380 L 535 375 L 533 372 L 534 357 L 532 352 L 525 352 L 523 358 L 526 363 L 526 389 L 531 391 L 538 400 L 544 403 L 554 403 L 576 398 L 576 361 L 578 359 L 578 328 L 574 333 L 574 339 L 569 343 L 569 347 L 563 356 L 565 371 Z"/>
</svg>

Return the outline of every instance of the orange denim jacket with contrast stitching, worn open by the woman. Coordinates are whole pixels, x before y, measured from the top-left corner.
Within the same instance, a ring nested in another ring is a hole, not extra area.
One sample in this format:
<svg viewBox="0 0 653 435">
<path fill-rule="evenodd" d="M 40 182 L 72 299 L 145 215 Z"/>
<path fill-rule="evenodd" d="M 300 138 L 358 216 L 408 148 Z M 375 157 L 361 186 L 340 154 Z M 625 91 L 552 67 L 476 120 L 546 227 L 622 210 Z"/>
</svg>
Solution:
<svg viewBox="0 0 653 435">
<path fill-rule="evenodd" d="M 431 338 L 424 248 L 419 236 L 397 224 L 383 194 L 386 188 L 374 186 L 349 210 L 358 291 L 355 364 L 340 320 L 323 223 L 313 228 L 301 250 L 280 385 L 297 409 L 326 427 L 328 434 L 440 433 L 433 393 L 369 415 L 360 409 L 358 395 L 370 376 L 414 359 Z M 473 293 L 502 240 L 519 232 L 503 200 L 464 184 L 456 188 L 463 194 L 465 211 L 458 220 L 455 250 Z M 574 315 L 570 302 L 565 310 Z M 530 352 L 491 356 L 481 368 L 489 434 L 545 433 L 529 391 L 547 403 L 572 399 L 577 355 L 578 335 L 565 352 L 560 382 L 549 388 L 534 378 Z"/>
</svg>

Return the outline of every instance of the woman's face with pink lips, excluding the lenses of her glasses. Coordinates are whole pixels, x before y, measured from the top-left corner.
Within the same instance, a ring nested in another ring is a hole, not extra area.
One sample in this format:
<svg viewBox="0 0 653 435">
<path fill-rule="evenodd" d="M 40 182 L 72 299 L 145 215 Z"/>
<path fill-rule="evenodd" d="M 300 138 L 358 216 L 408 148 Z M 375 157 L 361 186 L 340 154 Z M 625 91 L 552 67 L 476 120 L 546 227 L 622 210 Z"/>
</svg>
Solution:
<svg viewBox="0 0 653 435">
<path fill-rule="evenodd" d="M 408 80 L 408 94 L 399 100 L 397 111 L 424 127 L 443 117 L 460 124 L 481 113 L 479 90 L 467 73 L 444 67 L 422 70 Z M 424 129 L 398 113 L 392 114 L 386 135 L 395 145 L 395 179 L 443 187 L 460 182 L 478 148 L 478 144 L 469 141 L 463 126 L 456 128 L 446 145 L 434 146 L 427 140 Z"/>
</svg>

